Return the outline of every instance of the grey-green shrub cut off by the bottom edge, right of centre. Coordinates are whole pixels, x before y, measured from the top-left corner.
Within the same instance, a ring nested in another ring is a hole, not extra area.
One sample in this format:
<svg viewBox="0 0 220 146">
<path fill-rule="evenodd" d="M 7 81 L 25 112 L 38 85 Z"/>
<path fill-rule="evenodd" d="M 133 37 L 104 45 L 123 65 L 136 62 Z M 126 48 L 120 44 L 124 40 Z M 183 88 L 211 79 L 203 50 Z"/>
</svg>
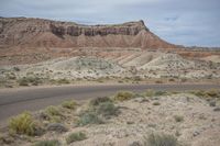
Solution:
<svg viewBox="0 0 220 146">
<path fill-rule="evenodd" d="M 144 139 L 144 146 L 178 146 L 177 138 L 167 134 L 151 134 Z"/>
</svg>

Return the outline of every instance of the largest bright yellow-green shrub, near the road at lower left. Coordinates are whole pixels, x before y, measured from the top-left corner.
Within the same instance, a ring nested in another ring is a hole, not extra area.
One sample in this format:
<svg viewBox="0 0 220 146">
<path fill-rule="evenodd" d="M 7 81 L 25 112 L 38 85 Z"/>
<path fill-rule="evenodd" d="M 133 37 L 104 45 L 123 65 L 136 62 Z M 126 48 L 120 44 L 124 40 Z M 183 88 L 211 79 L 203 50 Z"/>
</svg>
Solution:
<svg viewBox="0 0 220 146">
<path fill-rule="evenodd" d="M 9 122 L 9 128 L 16 134 L 35 135 L 36 124 L 31 113 L 24 112 L 12 117 Z"/>
</svg>

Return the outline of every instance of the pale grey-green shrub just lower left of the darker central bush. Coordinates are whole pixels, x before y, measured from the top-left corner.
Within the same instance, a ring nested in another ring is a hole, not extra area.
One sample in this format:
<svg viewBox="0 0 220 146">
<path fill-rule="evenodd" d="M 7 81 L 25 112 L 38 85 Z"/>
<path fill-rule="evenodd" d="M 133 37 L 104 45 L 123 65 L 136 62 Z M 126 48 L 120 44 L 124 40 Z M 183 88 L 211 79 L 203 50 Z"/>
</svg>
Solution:
<svg viewBox="0 0 220 146">
<path fill-rule="evenodd" d="M 102 124 L 102 119 L 94 111 L 86 111 L 79 115 L 78 125 L 84 126 L 88 124 Z"/>
</svg>

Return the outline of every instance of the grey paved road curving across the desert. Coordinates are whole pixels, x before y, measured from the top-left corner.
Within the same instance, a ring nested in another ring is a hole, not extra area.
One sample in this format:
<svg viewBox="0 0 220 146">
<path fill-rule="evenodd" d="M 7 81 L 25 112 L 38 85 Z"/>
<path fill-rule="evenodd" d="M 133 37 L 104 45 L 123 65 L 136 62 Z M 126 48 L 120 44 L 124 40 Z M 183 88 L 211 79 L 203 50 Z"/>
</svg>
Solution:
<svg viewBox="0 0 220 146">
<path fill-rule="evenodd" d="M 85 100 L 113 94 L 119 90 L 194 90 L 220 88 L 218 85 L 105 85 L 105 86 L 65 86 L 47 88 L 1 89 L 0 122 L 22 111 L 35 111 L 48 105 L 59 104 L 64 100 Z"/>
</svg>

